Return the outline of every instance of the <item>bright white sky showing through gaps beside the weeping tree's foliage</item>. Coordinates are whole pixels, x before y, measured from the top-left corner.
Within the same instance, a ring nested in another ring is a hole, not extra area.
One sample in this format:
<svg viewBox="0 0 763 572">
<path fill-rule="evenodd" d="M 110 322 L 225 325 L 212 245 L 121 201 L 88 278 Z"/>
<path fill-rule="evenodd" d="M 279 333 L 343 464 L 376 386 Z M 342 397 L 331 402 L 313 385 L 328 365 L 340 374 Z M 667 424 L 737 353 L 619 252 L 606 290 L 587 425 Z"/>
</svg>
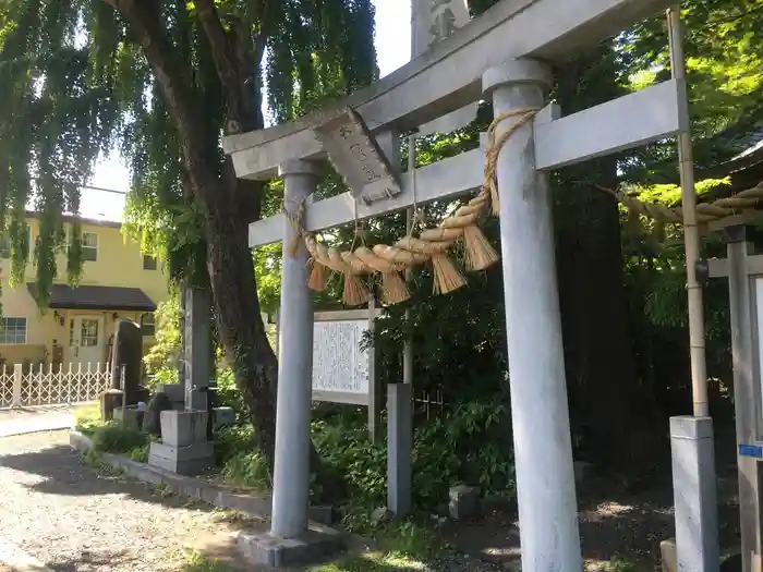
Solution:
<svg viewBox="0 0 763 572">
<path fill-rule="evenodd" d="M 374 0 L 376 5 L 376 53 L 382 75 L 393 72 L 411 56 L 411 0 Z M 99 162 L 94 186 L 126 191 L 128 171 L 118 156 Z M 82 196 L 82 214 L 86 217 L 121 220 L 124 197 L 113 193 L 85 191 Z"/>
</svg>

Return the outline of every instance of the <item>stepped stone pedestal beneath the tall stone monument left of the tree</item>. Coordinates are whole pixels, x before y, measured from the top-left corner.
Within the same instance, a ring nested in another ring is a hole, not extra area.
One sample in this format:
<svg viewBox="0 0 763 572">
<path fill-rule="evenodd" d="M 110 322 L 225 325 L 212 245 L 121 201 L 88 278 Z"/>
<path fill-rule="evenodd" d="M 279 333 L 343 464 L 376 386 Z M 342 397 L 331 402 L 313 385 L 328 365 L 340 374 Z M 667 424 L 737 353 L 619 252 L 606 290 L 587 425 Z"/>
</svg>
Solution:
<svg viewBox="0 0 763 572">
<path fill-rule="evenodd" d="M 162 411 L 161 440 L 152 443 L 148 464 L 179 475 L 194 475 L 215 465 L 215 448 L 207 440 L 206 411 Z"/>
</svg>

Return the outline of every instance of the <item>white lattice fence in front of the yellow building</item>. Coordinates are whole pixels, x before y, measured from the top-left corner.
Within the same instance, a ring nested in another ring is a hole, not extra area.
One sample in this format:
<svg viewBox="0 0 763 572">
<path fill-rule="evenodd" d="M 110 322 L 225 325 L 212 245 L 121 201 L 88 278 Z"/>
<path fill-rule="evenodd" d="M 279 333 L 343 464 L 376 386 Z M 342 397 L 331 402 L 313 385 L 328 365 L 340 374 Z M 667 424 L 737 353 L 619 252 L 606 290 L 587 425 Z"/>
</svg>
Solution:
<svg viewBox="0 0 763 572">
<path fill-rule="evenodd" d="M 111 387 L 108 365 L 55 369 L 52 365 L 36 366 L 24 372 L 21 365 L 2 369 L 0 374 L 0 407 L 34 407 L 87 403 Z"/>
</svg>

